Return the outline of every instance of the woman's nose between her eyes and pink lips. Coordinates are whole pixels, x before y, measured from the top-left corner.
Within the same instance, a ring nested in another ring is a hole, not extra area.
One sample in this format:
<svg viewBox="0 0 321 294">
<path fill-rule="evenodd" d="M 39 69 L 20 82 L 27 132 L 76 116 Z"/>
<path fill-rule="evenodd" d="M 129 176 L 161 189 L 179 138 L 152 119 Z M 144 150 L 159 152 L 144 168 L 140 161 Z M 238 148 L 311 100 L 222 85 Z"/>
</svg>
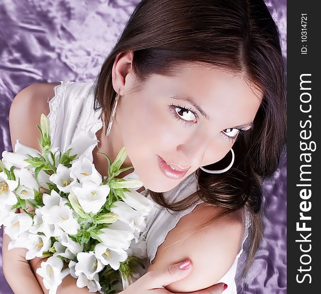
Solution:
<svg viewBox="0 0 321 294">
<path fill-rule="evenodd" d="M 187 142 L 177 146 L 177 152 L 185 159 L 185 164 L 192 167 L 200 167 L 204 158 L 206 149 L 213 140 L 213 135 L 207 131 L 200 129 L 191 136 Z"/>
</svg>

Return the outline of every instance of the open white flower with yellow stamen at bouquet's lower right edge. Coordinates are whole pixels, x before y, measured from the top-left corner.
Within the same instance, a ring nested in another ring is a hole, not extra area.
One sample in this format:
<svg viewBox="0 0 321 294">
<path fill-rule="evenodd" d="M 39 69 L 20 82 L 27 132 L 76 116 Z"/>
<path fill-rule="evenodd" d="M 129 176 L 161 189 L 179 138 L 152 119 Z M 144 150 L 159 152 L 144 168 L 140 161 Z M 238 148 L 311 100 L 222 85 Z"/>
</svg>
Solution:
<svg viewBox="0 0 321 294">
<path fill-rule="evenodd" d="M 120 262 L 125 261 L 128 257 L 128 254 L 125 250 L 121 248 L 117 251 L 111 250 L 107 248 L 106 245 L 101 243 L 95 246 L 95 255 L 103 265 L 110 265 L 110 267 L 114 270 L 118 270 L 120 267 Z"/>
</svg>

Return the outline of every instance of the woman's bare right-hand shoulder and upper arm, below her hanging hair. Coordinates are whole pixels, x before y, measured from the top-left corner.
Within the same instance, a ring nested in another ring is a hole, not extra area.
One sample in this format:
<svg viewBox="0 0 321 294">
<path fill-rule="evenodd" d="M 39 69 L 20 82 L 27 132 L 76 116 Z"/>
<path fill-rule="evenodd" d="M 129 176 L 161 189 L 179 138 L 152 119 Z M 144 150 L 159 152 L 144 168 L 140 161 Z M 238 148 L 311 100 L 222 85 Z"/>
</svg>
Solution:
<svg viewBox="0 0 321 294">
<path fill-rule="evenodd" d="M 158 249 L 147 271 L 162 270 L 190 258 L 192 272 L 166 287 L 171 292 L 192 292 L 216 284 L 232 266 L 244 236 L 243 211 L 220 217 L 197 230 L 201 223 L 220 213 L 221 208 L 200 203 L 183 216 Z"/>
</svg>

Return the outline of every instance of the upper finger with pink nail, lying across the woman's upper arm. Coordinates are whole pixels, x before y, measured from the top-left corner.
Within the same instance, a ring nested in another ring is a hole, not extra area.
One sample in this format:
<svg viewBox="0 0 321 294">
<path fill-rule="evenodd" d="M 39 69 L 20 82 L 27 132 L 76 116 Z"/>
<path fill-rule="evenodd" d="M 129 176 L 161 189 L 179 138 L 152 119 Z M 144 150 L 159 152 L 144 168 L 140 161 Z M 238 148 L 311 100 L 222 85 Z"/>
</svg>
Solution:
<svg viewBox="0 0 321 294">
<path fill-rule="evenodd" d="M 146 275 L 144 275 L 146 276 L 146 279 L 148 279 L 148 286 L 151 289 L 162 288 L 173 282 L 176 282 L 178 280 L 185 278 L 192 271 L 193 266 L 192 266 L 192 262 L 190 261 L 190 267 L 187 268 L 186 270 L 182 270 L 179 267 L 183 263 L 170 265 L 164 270 L 149 271 Z"/>
</svg>

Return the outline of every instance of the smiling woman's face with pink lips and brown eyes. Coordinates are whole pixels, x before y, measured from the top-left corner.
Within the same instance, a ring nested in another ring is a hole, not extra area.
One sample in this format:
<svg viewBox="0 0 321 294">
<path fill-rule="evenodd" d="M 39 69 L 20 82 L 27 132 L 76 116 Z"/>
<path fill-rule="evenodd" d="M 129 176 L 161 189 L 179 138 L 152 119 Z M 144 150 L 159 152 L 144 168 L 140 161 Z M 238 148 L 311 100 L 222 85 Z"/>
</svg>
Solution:
<svg viewBox="0 0 321 294">
<path fill-rule="evenodd" d="M 131 74 L 114 123 L 135 172 L 154 192 L 169 191 L 199 167 L 221 160 L 240 129 L 251 127 L 262 100 L 242 76 L 204 65 L 182 66 L 176 77 L 152 75 L 134 93 Z M 190 168 L 184 175 L 171 172 L 159 156 L 176 169 Z"/>
</svg>

